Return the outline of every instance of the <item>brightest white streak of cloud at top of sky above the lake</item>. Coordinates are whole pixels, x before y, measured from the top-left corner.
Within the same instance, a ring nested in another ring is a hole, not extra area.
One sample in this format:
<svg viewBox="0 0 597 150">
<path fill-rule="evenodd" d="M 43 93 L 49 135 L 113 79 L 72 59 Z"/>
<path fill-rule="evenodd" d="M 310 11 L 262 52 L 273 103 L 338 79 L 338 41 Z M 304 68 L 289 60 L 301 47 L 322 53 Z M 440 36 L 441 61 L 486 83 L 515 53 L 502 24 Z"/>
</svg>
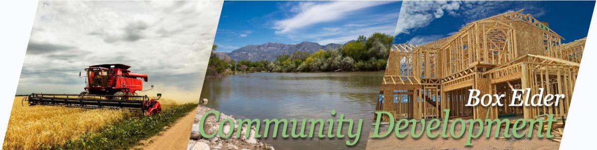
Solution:
<svg viewBox="0 0 597 150">
<path fill-rule="evenodd" d="M 276 29 L 277 34 L 293 32 L 313 24 L 340 20 L 364 8 L 387 3 L 380 1 L 301 2 L 298 7 L 290 9 L 292 12 L 297 12 L 294 17 L 275 21 L 273 29 Z"/>
</svg>

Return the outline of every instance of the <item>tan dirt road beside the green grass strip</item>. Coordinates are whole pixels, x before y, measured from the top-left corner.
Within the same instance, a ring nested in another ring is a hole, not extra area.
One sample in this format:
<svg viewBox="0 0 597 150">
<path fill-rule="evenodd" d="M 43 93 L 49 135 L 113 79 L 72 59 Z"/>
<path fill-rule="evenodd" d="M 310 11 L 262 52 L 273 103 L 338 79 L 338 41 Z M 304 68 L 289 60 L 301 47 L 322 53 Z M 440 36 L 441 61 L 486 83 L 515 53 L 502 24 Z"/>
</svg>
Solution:
<svg viewBox="0 0 597 150">
<path fill-rule="evenodd" d="M 186 149 L 189 143 L 190 130 L 197 109 L 176 121 L 169 129 L 157 136 L 141 141 L 143 145 L 133 149 Z"/>
</svg>

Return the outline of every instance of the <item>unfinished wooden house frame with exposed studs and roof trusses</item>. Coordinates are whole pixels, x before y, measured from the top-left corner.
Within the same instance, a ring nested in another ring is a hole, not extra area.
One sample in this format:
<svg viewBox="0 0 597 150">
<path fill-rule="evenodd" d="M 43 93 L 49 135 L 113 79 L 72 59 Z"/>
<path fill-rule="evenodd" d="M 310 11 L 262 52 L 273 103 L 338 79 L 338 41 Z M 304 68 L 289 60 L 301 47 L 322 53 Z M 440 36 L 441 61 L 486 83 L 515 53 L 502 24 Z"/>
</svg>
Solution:
<svg viewBox="0 0 597 150">
<path fill-rule="evenodd" d="M 424 45 L 393 45 L 376 109 L 416 119 L 566 118 L 586 38 L 561 43 L 564 38 L 547 23 L 521 11 L 474 21 Z M 512 90 L 526 88 L 531 95 L 543 88 L 543 96 L 565 98 L 558 107 L 508 106 Z M 505 94 L 504 106 L 466 107 L 469 89 L 481 95 Z M 450 109 L 449 116 L 444 116 L 445 109 Z"/>
</svg>

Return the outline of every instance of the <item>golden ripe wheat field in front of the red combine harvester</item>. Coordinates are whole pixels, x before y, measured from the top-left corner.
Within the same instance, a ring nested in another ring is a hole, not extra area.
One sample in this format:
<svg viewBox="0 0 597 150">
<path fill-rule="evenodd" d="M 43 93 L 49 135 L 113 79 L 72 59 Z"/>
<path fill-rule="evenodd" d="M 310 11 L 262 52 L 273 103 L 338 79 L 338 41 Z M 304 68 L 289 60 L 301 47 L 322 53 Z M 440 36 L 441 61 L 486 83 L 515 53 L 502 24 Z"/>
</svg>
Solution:
<svg viewBox="0 0 597 150">
<path fill-rule="evenodd" d="M 98 132 L 107 124 L 130 112 L 109 109 L 84 109 L 56 106 L 29 106 L 14 98 L 2 149 L 46 149 L 44 145 L 61 145 L 85 132 Z"/>
</svg>

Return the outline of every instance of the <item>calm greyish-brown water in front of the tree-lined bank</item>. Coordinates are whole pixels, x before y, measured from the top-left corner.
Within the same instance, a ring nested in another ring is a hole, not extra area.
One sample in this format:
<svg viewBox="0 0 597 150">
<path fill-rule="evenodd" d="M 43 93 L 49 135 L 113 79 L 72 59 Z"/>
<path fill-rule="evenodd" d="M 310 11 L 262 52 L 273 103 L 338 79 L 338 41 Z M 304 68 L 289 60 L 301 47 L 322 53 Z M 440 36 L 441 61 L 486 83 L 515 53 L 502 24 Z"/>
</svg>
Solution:
<svg viewBox="0 0 597 150">
<path fill-rule="evenodd" d="M 261 140 L 276 149 L 365 149 L 382 76 L 383 72 L 377 71 L 248 73 L 206 77 L 201 98 L 209 99 L 207 107 L 234 115 L 237 119 L 333 118 L 336 121 L 339 114 L 344 114 L 345 118 L 354 119 L 356 124 L 362 118 L 361 137 L 355 146 L 347 147 L 346 140 L 353 140 L 346 137 L 320 139 L 318 132 L 315 132 L 315 137 L 306 139 L 283 139 L 279 138 L 281 132 L 278 132 L 276 139 Z M 336 110 L 336 116 L 330 114 L 331 110 Z M 343 127 L 343 135 L 346 135 L 347 127 Z M 327 134 L 327 131 L 324 133 Z"/>
</svg>

